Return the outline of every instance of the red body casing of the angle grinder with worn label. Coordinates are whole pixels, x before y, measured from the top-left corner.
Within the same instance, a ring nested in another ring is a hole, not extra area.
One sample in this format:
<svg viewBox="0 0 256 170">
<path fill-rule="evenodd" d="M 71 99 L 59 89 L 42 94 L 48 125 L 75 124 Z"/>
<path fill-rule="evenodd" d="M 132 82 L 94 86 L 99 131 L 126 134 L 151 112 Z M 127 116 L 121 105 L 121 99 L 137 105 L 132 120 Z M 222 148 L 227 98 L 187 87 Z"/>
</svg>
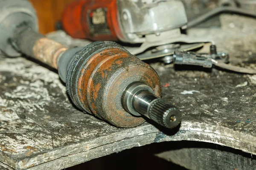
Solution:
<svg viewBox="0 0 256 170">
<path fill-rule="evenodd" d="M 122 37 L 116 0 L 77 0 L 62 15 L 64 30 L 73 38 L 117 41 Z"/>
</svg>

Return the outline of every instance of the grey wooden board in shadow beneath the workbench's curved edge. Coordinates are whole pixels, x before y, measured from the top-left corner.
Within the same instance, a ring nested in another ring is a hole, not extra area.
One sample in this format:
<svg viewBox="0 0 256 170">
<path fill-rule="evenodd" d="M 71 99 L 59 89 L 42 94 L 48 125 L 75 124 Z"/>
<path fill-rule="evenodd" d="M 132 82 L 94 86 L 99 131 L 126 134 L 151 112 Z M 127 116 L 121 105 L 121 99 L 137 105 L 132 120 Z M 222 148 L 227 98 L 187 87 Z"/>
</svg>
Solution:
<svg viewBox="0 0 256 170">
<path fill-rule="evenodd" d="M 212 148 L 182 148 L 158 153 L 158 157 L 189 170 L 255 170 L 253 156 Z"/>
</svg>

